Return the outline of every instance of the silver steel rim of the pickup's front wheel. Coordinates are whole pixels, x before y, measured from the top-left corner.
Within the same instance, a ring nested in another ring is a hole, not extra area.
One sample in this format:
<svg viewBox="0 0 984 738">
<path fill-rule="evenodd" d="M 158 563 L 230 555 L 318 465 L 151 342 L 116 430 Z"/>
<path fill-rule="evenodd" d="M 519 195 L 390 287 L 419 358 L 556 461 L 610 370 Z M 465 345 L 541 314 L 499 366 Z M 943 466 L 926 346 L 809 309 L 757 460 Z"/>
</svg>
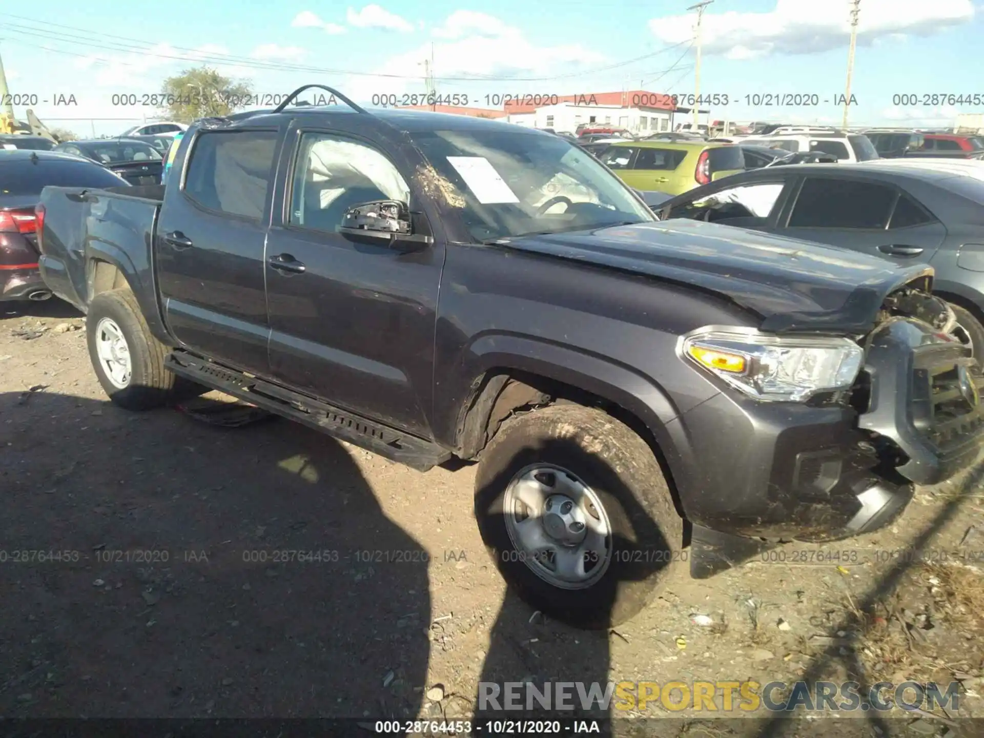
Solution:
<svg viewBox="0 0 984 738">
<path fill-rule="evenodd" d="M 608 571 L 608 514 L 574 472 L 550 463 L 525 466 L 506 487 L 503 507 L 512 553 L 547 584 L 586 589 Z"/>
</svg>

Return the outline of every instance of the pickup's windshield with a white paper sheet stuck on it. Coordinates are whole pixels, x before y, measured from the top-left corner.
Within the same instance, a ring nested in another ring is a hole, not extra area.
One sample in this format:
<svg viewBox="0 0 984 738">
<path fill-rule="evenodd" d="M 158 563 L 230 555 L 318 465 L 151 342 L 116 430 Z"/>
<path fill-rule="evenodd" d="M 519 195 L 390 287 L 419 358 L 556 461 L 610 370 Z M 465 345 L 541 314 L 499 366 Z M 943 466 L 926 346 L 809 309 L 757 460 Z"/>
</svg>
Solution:
<svg viewBox="0 0 984 738">
<path fill-rule="evenodd" d="M 556 136 L 431 131 L 411 139 L 478 242 L 655 219 L 593 156 Z"/>
</svg>

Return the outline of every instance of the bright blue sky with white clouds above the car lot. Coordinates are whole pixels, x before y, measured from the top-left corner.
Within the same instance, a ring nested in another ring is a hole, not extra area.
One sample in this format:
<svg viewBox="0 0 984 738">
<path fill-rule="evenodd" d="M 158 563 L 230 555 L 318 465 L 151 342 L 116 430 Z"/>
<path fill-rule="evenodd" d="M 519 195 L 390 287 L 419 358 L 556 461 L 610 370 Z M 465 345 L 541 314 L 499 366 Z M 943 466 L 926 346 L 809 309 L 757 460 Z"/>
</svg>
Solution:
<svg viewBox="0 0 984 738">
<path fill-rule="evenodd" d="M 0 53 L 12 94 L 29 103 L 36 95 L 39 118 L 83 135 L 154 119 L 153 106 L 114 104 L 120 98 L 113 95 L 133 93 L 143 102 L 165 77 L 203 61 L 252 81 L 256 92 L 322 83 L 364 102 L 424 92 L 432 50 L 438 92 L 467 95 L 476 106 L 488 106 L 485 95 L 509 93 L 692 93 L 694 16 L 686 8 L 694 1 L 47 0 L 0 12 Z M 984 112 L 984 5 L 860 2 L 851 124 L 944 126 L 957 112 Z M 704 16 L 701 92 L 726 94 L 729 104 L 712 107 L 712 117 L 839 123 L 842 108 L 833 100 L 844 91 L 849 6 L 714 0 Z M 757 93 L 816 94 L 820 102 L 756 106 L 745 95 Z M 59 94 L 77 104 L 54 105 Z M 897 94 L 916 95 L 916 104 L 893 104 Z M 924 94 L 982 99 L 922 104 Z M 18 117 L 27 106 L 15 106 Z"/>
</svg>

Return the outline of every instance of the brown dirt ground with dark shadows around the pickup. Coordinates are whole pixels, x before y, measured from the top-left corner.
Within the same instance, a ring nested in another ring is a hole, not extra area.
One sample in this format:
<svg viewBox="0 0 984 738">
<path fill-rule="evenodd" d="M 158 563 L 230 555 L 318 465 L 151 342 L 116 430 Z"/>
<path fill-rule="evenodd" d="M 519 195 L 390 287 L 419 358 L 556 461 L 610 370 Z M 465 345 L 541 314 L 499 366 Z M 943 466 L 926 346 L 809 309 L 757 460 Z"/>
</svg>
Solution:
<svg viewBox="0 0 984 738">
<path fill-rule="evenodd" d="M 473 476 L 283 420 L 126 412 L 94 379 L 81 316 L 0 305 L 0 715 L 466 717 L 479 678 L 915 680 L 958 682 L 958 709 L 753 729 L 650 703 L 616 728 L 984 734 L 969 719 L 984 717 L 984 463 L 920 488 L 878 533 L 788 544 L 706 581 L 684 570 L 610 633 L 506 591 Z"/>
</svg>

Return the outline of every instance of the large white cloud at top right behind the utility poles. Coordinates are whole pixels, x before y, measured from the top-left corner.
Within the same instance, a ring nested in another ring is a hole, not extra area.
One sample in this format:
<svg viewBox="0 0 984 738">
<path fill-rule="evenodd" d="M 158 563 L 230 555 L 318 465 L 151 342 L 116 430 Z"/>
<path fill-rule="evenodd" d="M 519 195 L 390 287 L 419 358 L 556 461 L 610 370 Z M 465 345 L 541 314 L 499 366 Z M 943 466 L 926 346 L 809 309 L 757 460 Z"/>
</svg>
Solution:
<svg viewBox="0 0 984 738">
<path fill-rule="evenodd" d="M 729 59 L 769 54 L 808 54 L 844 46 L 850 33 L 847 0 L 775 0 L 768 13 L 705 11 L 703 51 Z M 974 17 L 971 0 L 866 0 L 858 16 L 858 44 L 931 35 Z M 649 30 L 667 43 L 694 37 L 697 15 L 649 21 Z"/>
</svg>

